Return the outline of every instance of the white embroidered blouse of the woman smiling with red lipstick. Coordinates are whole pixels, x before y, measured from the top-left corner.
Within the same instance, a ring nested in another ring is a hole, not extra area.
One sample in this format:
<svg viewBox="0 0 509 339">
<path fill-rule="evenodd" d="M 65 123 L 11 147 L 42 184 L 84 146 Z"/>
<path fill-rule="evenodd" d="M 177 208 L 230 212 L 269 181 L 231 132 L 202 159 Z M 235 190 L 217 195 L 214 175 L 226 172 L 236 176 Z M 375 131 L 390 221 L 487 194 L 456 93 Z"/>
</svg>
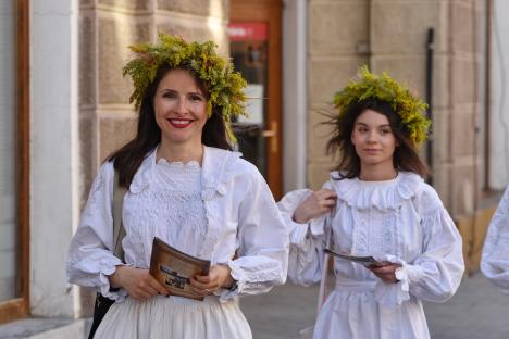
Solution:
<svg viewBox="0 0 509 339">
<path fill-rule="evenodd" d="M 124 198 L 122 246 L 125 262 L 148 268 L 153 237 L 191 255 L 227 264 L 237 289 L 221 300 L 256 294 L 286 280 L 288 233 L 258 170 L 239 153 L 204 148 L 202 168 L 146 158 Z M 108 275 L 122 264 L 112 248 L 113 164 L 96 177 L 67 256 L 71 282 L 96 287 L 122 301 L 125 290 L 110 291 Z M 233 259 L 235 251 L 237 259 Z"/>
</svg>

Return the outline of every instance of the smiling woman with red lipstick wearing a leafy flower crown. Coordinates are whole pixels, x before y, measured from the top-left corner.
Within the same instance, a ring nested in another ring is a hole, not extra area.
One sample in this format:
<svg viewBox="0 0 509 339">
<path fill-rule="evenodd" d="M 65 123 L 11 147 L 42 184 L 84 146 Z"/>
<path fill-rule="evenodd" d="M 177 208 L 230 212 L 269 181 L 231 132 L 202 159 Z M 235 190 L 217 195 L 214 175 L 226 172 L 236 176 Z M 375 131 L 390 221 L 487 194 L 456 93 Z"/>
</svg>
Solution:
<svg viewBox="0 0 509 339">
<path fill-rule="evenodd" d="M 214 48 L 164 34 L 132 47 L 137 135 L 99 170 L 69 250 L 70 281 L 115 300 L 95 338 L 251 338 L 236 297 L 285 282 L 287 228 L 261 174 L 229 146 L 246 81 Z M 111 250 L 115 171 L 127 189 L 125 263 Z M 190 279 L 203 301 L 167 296 L 149 274 L 154 237 L 211 261 Z"/>
</svg>

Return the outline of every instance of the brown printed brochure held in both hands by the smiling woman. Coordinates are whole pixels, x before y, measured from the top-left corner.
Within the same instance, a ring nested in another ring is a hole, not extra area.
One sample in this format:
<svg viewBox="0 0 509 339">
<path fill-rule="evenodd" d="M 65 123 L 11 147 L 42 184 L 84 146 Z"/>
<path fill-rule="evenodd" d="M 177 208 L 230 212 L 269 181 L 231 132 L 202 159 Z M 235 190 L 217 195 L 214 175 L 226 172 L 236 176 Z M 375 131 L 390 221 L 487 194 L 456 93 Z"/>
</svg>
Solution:
<svg viewBox="0 0 509 339">
<path fill-rule="evenodd" d="M 194 292 L 189 279 L 194 275 L 208 275 L 210 261 L 184 253 L 158 237 L 153 238 L 150 275 L 173 296 L 203 300 Z"/>
</svg>

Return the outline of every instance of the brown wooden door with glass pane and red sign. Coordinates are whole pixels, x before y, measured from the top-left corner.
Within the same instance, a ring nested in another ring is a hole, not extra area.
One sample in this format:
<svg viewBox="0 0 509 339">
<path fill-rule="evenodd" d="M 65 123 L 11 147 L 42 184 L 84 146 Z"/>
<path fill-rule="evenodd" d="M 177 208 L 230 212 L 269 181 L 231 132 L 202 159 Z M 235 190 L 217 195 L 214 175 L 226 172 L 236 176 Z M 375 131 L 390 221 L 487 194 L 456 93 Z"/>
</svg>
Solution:
<svg viewBox="0 0 509 339">
<path fill-rule="evenodd" d="M 282 10 L 281 0 L 232 0 L 231 55 L 248 80 L 249 118 L 237 122 L 239 151 L 282 196 Z"/>
</svg>

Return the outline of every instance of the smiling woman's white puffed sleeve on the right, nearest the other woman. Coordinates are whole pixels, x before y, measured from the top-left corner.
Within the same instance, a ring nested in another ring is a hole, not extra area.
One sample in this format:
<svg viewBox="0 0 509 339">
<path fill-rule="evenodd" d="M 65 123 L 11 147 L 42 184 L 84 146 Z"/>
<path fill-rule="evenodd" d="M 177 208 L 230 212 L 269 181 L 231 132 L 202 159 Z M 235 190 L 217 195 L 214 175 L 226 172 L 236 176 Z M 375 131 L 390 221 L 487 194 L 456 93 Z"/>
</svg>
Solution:
<svg viewBox="0 0 509 339">
<path fill-rule="evenodd" d="M 288 231 L 262 175 L 249 168 L 250 183 L 239 188 L 245 193 L 238 210 L 238 258 L 228 262 L 237 288 L 223 290 L 221 300 L 264 293 L 286 281 Z"/>
</svg>

